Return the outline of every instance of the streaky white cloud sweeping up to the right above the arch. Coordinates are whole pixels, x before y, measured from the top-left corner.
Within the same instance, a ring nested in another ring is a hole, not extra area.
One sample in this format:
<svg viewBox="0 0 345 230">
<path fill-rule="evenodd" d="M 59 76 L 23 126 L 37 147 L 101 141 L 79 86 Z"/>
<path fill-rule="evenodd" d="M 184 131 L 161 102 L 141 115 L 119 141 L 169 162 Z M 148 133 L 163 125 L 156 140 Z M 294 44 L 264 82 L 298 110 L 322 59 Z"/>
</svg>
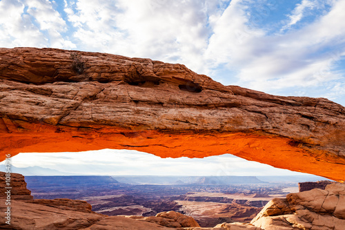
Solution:
<svg viewBox="0 0 345 230">
<path fill-rule="evenodd" d="M 230 7 L 226 11 L 231 10 Z M 208 52 L 214 52 L 215 66 L 226 63 L 229 68 L 239 70 L 237 84 L 267 91 L 319 86 L 342 77 L 333 72 L 333 64 L 345 50 L 345 24 L 342 23 L 345 15 L 340 10 L 345 7 L 345 1 L 335 3 L 319 20 L 284 35 L 265 35 L 262 30 L 248 28 L 246 15 L 239 7 L 233 6 L 235 12 L 226 20 L 235 21 L 231 26 L 217 20 L 215 39 L 211 38 L 208 46 Z M 236 42 L 237 30 L 242 31 L 240 42 Z"/>
</svg>

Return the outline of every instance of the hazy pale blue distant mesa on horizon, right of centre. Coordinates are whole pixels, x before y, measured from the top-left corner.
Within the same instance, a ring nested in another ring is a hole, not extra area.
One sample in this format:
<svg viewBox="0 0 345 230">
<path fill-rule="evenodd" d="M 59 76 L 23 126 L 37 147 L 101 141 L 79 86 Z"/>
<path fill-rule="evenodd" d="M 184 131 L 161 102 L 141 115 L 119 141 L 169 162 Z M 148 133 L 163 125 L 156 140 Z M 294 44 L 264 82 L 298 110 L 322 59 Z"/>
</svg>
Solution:
<svg viewBox="0 0 345 230">
<path fill-rule="evenodd" d="M 255 176 L 113 176 L 126 184 L 265 184 Z"/>
</svg>

